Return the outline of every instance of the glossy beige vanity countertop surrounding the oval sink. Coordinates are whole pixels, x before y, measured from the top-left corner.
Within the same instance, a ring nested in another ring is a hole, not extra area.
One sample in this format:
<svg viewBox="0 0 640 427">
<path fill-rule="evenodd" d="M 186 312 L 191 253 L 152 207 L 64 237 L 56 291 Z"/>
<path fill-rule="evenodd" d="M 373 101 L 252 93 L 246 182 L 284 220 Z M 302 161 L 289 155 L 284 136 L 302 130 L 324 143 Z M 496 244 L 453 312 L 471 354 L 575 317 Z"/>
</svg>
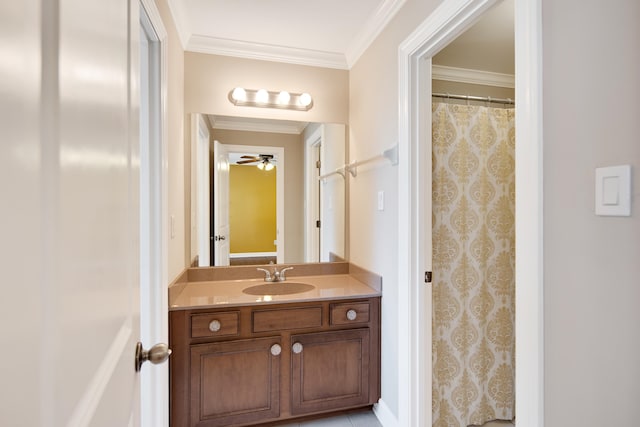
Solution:
<svg viewBox="0 0 640 427">
<path fill-rule="evenodd" d="M 308 283 L 315 288 L 307 292 L 289 295 L 248 295 L 242 290 L 263 284 L 264 280 L 190 282 L 185 285 L 184 290 L 173 301 L 169 301 L 169 310 L 380 296 L 379 291 L 348 274 L 290 277 L 286 282 Z"/>
</svg>

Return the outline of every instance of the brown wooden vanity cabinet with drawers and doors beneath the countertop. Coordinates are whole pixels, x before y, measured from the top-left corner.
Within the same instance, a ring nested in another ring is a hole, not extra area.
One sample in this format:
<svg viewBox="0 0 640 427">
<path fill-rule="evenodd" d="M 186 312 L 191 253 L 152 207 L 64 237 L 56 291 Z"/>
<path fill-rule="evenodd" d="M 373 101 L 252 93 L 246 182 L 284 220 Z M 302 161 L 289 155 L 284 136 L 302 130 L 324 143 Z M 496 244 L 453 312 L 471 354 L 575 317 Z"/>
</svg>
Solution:
<svg viewBox="0 0 640 427">
<path fill-rule="evenodd" d="M 380 298 L 169 313 L 172 427 L 249 426 L 380 397 Z"/>
</svg>

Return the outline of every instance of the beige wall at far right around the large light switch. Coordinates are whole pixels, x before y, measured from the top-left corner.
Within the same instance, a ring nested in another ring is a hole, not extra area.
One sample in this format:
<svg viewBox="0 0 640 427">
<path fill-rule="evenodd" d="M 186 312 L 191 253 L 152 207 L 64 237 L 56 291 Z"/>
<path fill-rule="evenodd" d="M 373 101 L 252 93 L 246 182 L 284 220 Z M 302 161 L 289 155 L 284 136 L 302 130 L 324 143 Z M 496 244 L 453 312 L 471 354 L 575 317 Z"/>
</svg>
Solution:
<svg viewBox="0 0 640 427">
<path fill-rule="evenodd" d="M 542 3 L 545 426 L 637 425 L 640 2 Z M 594 170 L 620 164 L 632 216 L 596 216 Z"/>
</svg>

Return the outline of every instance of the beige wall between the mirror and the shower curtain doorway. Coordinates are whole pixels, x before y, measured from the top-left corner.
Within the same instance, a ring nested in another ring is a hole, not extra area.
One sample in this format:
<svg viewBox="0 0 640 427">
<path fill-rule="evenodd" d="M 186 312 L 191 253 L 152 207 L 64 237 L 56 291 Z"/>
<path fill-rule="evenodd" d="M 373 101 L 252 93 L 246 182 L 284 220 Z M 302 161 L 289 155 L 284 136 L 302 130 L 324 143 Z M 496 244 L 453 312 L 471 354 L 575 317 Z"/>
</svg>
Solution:
<svg viewBox="0 0 640 427">
<path fill-rule="evenodd" d="M 365 159 L 398 141 L 398 46 L 439 1 L 408 0 L 350 73 L 349 158 Z M 382 400 L 398 415 L 397 254 L 398 170 L 388 164 L 358 170 L 350 180 L 350 261 L 383 277 Z M 385 209 L 377 210 L 378 191 Z M 378 232 L 376 232 L 378 231 Z M 379 232 L 379 231 L 382 231 Z M 426 403 L 428 404 L 428 403 Z"/>
</svg>

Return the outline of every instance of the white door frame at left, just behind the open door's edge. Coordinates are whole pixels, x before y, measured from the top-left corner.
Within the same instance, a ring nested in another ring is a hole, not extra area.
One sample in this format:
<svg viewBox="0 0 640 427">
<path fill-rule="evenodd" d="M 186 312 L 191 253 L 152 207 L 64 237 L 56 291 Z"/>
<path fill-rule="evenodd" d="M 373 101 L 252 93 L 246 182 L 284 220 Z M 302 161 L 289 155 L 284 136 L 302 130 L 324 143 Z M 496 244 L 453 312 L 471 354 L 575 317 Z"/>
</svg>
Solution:
<svg viewBox="0 0 640 427">
<path fill-rule="evenodd" d="M 169 297 L 166 287 L 169 283 L 169 186 L 168 186 L 168 120 L 167 120 L 167 73 L 168 46 L 167 31 L 154 0 L 139 0 L 151 26 L 158 38 L 158 53 L 160 63 L 159 103 L 160 129 L 158 144 L 150 144 L 151 158 L 154 159 L 157 173 L 151 180 L 151 197 L 155 200 L 156 210 L 152 211 L 151 228 L 159 231 L 153 240 L 150 259 L 150 272 L 153 280 L 150 282 L 149 295 L 146 295 L 146 306 L 149 310 L 141 311 L 141 337 L 149 342 L 143 342 L 145 348 L 158 342 L 168 342 L 169 339 Z M 145 295 L 140 295 L 141 310 L 145 305 Z M 146 322 L 142 318 L 146 317 Z M 145 330 L 142 330 L 142 325 Z M 169 425 L 169 364 L 145 366 L 148 380 L 142 380 L 141 393 L 141 427 L 167 427 Z"/>
</svg>

